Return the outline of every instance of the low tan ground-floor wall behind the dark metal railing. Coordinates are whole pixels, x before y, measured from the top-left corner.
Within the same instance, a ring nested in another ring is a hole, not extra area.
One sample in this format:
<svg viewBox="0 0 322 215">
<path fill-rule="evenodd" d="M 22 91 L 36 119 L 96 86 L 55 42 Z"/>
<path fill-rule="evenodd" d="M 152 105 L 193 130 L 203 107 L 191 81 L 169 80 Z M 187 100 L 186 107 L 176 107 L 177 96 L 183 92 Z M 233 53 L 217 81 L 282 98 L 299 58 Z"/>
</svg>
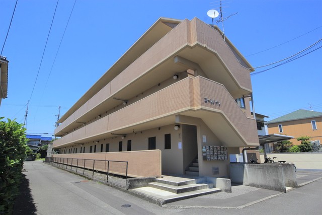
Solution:
<svg viewBox="0 0 322 215">
<path fill-rule="evenodd" d="M 62 154 L 53 155 L 53 157 L 94 159 L 104 161 L 128 161 L 128 176 L 130 177 L 161 177 L 161 151 L 159 150 L 114 153 Z M 91 162 L 89 162 L 88 166 L 86 167 L 90 168 L 90 165 Z"/>
</svg>

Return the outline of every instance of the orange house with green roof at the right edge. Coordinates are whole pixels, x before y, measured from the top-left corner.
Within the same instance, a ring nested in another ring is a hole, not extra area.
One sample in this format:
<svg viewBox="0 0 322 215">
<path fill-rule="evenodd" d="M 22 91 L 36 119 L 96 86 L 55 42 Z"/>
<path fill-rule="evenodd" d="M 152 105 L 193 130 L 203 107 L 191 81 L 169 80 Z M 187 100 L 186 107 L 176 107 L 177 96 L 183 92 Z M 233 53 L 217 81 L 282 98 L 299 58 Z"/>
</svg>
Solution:
<svg viewBox="0 0 322 215">
<path fill-rule="evenodd" d="M 309 136 L 311 141 L 322 143 L 322 112 L 297 110 L 266 122 L 269 133 L 291 135 L 294 145 L 300 136 Z"/>
</svg>

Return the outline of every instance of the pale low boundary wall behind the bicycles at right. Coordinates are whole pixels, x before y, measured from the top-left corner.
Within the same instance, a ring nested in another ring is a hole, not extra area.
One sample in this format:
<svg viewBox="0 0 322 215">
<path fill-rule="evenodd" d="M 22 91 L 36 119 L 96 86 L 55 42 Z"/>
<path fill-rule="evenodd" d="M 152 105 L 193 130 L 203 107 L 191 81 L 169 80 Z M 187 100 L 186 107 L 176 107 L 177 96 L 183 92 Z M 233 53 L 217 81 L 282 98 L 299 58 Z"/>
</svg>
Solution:
<svg viewBox="0 0 322 215">
<path fill-rule="evenodd" d="M 265 161 L 264 154 L 261 154 L 261 160 Z M 295 164 L 297 169 L 322 170 L 322 153 L 272 153 L 267 157 L 277 157 L 275 161 L 286 161 L 286 163 Z"/>
</svg>

